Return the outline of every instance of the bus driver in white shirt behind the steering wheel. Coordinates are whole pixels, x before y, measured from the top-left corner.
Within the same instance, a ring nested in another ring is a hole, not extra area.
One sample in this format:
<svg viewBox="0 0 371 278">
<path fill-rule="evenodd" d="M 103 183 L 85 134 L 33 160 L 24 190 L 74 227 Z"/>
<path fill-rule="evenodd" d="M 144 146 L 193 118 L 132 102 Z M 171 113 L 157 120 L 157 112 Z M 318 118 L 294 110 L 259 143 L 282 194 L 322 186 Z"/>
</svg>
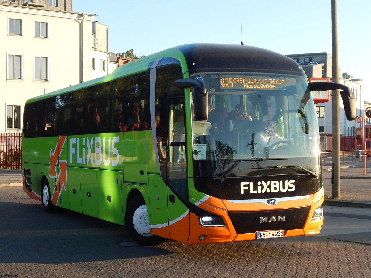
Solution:
<svg viewBox="0 0 371 278">
<path fill-rule="evenodd" d="M 255 149 L 257 152 L 263 153 L 265 147 L 270 147 L 279 141 L 285 141 L 288 144 L 292 144 L 290 140 L 282 138 L 276 132 L 277 124 L 272 120 L 264 122 L 264 128 L 262 131 L 256 133 L 255 136 Z"/>
</svg>

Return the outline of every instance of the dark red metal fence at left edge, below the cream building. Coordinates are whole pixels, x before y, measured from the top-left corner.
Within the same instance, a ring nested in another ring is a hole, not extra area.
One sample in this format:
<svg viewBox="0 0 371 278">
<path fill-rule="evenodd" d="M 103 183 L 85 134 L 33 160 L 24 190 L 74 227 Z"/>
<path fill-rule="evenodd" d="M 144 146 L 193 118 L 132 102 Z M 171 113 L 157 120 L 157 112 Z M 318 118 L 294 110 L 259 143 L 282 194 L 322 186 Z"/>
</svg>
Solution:
<svg viewBox="0 0 371 278">
<path fill-rule="evenodd" d="M 22 169 L 22 133 L 0 133 L 0 169 Z"/>
</svg>

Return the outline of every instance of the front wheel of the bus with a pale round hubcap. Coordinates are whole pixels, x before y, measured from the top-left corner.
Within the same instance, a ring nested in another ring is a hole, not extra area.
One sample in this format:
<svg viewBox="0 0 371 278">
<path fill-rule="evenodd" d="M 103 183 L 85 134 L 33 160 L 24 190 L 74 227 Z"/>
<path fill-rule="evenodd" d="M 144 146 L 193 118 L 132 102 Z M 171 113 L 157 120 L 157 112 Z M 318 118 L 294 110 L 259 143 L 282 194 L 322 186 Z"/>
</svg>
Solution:
<svg viewBox="0 0 371 278">
<path fill-rule="evenodd" d="M 129 236 L 140 245 L 157 245 L 168 240 L 150 234 L 147 206 L 142 196 L 129 202 L 125 212 L 125 227 Z"/>
</svg>

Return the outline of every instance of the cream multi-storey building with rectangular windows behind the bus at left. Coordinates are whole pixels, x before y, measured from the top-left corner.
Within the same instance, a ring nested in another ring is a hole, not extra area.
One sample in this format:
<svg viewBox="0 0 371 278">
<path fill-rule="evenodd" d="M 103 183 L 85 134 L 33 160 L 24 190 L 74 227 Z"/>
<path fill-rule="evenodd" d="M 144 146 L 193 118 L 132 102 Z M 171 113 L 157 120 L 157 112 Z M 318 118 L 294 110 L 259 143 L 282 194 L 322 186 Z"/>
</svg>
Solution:
<svg viewBox="0 0 371 278">
<path fill-rule="evenodd" d="M 22 130 L 24 103 L 107 75 L 108 26 L 72 0 L 0 0 L 0 133 Z"/>
</svg>

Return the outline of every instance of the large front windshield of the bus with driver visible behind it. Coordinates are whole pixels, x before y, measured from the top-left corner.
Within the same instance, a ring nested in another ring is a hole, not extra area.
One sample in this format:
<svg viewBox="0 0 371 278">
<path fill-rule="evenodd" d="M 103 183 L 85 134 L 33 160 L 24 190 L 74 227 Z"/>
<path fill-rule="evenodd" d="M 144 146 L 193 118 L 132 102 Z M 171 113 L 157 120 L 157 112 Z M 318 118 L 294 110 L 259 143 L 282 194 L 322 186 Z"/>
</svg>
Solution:
<svg viewBox="0 0 371 278">
<path fill-rule="evenodd" d="M 212 72 L 191 76 L 196 77 L 209 93 L 209 118 L 192 118 L 195 177 L 252 175 L 267 168 L 288 173 L 320 171 L 318 122 L 304 75 Z"/>
</svg>

